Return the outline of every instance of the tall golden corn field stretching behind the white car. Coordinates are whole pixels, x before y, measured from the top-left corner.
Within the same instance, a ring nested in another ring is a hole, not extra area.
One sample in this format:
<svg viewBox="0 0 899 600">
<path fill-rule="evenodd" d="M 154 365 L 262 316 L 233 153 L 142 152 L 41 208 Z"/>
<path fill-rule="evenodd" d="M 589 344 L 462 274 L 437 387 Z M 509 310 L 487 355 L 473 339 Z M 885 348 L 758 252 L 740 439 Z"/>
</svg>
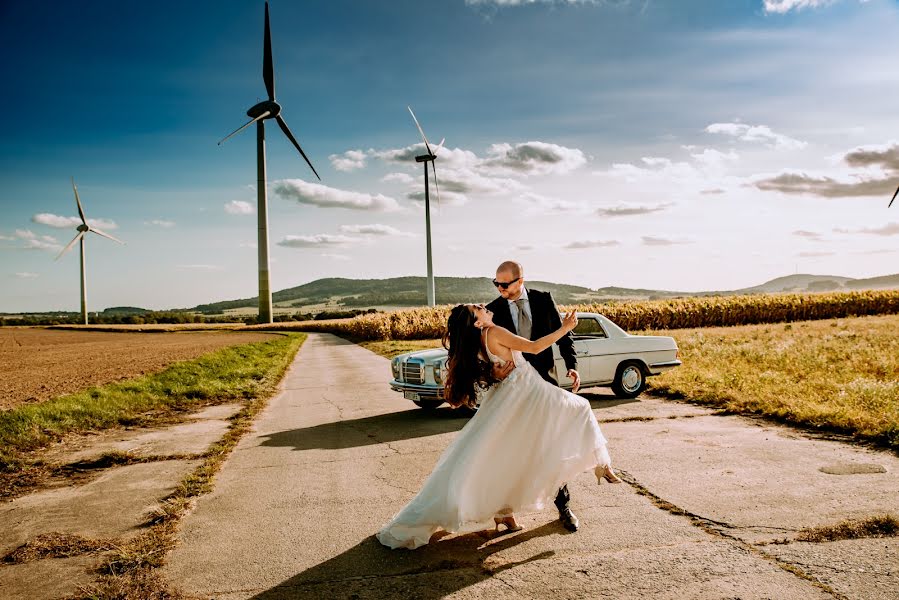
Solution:
<svg viewBox="0 0 899 600">
<path fill-rule="evenodd" d="M 443 336 L 452 307 L 413 308 L 334 321 L 276 323 L 265 329 L 317 331 L 355 340 L 422 340 Z M 560 306 L 604 314 L 627 331 L 812 321 L 899 313 L 899 290 L 704 296 Z"/>
</svg>

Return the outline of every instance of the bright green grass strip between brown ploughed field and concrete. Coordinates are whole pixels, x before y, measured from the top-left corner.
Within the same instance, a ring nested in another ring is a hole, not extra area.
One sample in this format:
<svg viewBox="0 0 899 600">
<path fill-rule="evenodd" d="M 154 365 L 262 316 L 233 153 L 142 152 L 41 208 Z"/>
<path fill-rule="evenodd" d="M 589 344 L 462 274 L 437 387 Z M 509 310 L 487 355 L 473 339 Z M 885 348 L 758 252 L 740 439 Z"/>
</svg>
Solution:
<svg viewBox="0 0 899 600">
<path fill-rule="evenodd" d="M 0 472 L 26 466 L 25 452 L 65 435 L 159 422 L 200 406 L 274 390 L 305 334 L 232 346 L 164 371 L 0 413 Z"/>
</svg>

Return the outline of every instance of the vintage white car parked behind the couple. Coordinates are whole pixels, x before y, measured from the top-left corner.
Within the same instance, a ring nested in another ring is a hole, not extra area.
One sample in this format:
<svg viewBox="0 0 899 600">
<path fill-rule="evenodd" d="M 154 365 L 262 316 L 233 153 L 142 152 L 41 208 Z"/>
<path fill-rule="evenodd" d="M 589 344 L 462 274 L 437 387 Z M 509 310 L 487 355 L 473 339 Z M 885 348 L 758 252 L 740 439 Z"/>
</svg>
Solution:
<svg viewBox="0 0 899 600">
<path fill-rule="evenodd" d="M 631 335 L 615 323 L 596 313 L 578 315 L 578 325 L 571 332 L 577 352 L 581 389 L 611 387 L 620 398 L 635 398 L 643 391 L 646 378 L 680 366 L 674 338 L 655 335 Z M 571 389 L 568 369 L 553 344 L 555 366 L 551 375 Z M 421 408 L 437 408 L 443 404 L 443 375 L 446 372 L 446 350 L 419 350 L 400 354 L 390 361 L 393 379 L 390 388 L 402 392 Z"/>
</svg>

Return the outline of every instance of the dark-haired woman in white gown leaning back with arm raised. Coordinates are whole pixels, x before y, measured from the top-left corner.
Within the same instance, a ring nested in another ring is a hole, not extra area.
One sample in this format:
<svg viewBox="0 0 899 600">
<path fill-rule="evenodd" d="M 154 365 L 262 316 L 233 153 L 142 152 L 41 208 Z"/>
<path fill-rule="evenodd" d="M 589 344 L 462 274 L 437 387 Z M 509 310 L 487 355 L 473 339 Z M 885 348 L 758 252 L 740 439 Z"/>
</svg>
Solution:
<svg viewBox="0 0 899 600">
<path fill-rule="evenodd" d="M 439 530 L 518 531 L 514 512 L 539 510 L 578 473 L 621 480 L 611 468 L 606 439 L 590 403 L 545 381 L 522 352 L 539 353 L 577 325 L 527 340 L 493 324 L 483 304 L 460 304 L 447 322 L 445 397 L 454 407 L 480 408 L 437 461 L 421 491 L 378 532 L 390 548 L 418 548 Z M 493 365 L 512 361 L 497 381 Z"/>
</svg>

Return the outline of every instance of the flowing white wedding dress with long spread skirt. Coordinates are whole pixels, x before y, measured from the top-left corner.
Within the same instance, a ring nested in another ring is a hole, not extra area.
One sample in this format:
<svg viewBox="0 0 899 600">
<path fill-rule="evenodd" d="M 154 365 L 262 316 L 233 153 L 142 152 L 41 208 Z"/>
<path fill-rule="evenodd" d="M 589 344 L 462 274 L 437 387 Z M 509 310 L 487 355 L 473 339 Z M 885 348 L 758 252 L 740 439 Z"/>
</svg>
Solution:
<svg viewBox="0 0 899 600">
<path fill-rule="evenodd" d="M 590 403 L 545 381 L 521 352 L 512 358 L 512 373 L 479 395 L 421 491 L 378 532 L 382 544 L 418 548 L 439 530 L 490 528 L 494 515 L 540 510 L 579 473 L 611 466 Z"/>
</svg>

